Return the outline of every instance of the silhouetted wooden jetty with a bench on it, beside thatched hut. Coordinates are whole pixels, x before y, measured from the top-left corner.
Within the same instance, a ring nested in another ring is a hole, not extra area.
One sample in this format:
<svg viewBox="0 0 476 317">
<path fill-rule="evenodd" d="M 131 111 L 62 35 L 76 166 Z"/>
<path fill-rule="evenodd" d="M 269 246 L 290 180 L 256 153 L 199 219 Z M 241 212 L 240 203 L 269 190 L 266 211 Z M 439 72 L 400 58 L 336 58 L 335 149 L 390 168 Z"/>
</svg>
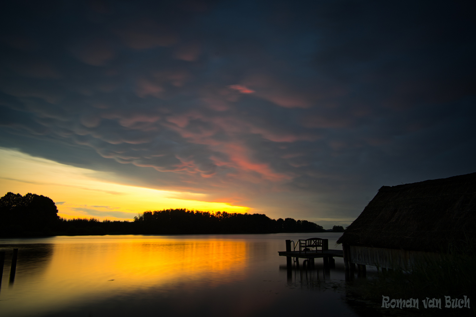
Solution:
<svg viewBox="0 0 476 317">
<path fill-rule="evenodd" d="M 307 259 L 307 264 L 310 267 L 314 266 L 314 259 L 322 258 L 324 261 L 324 267 L 333 267 L 335 265 L 334 257 L 343 258 L 344 253 L 342 250 L 329 250 L 329 240 L 321 238 L 310 238 L 306 240 L 297 240 L 294 244 L 294 250 L 291 250 L 292 240 L 286 240 L 286 251 L 279 251 L 278 254 L 282 257 L 286 257 L 287 266 L 291 268 L 291 258 L 296 259 L 297 266 L 299 265 L 299 258 Z M 299 250 L 296 248 L 299 247 Z M 312 249 L 315 250 L 312 250 Z M 321 248 L 318 250 L 317 248 Z"/>
</svg>

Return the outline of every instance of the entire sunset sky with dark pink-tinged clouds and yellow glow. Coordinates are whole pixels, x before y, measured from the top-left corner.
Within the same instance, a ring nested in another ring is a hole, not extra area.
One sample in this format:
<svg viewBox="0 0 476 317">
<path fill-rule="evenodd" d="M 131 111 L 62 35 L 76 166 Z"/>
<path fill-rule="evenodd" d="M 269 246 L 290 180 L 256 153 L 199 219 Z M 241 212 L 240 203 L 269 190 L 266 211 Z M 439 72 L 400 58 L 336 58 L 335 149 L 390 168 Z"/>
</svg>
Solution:
<svg viewBox="0 0 476 317">
<path fill-rule="evenodd" d="M 347 226 L 476 172 L 474 1 L 10 1 L 0 194 Z"/>
</svg>

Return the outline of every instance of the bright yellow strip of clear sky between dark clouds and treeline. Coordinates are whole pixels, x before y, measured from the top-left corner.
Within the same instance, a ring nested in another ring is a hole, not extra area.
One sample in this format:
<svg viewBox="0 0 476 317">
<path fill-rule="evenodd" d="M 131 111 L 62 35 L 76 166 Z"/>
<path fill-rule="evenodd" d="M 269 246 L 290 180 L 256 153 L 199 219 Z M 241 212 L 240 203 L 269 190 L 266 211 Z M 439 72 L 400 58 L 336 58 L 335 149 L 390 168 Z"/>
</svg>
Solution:
<svg viewBox="0 0 476 317">
<path fill-rule="evenodd" d="M 248 212 L 226 200 L 208 202 L 205 193 L 162 191 L 131 186 L 112 173 L 98 172 L 0 148 L 0 194 L 32 192 L 50 197 L 63 218 L 132 220 L 148 210 L 185 208 Z M 230 200 L 232 201 L 232 200 Z"/>
</svg>

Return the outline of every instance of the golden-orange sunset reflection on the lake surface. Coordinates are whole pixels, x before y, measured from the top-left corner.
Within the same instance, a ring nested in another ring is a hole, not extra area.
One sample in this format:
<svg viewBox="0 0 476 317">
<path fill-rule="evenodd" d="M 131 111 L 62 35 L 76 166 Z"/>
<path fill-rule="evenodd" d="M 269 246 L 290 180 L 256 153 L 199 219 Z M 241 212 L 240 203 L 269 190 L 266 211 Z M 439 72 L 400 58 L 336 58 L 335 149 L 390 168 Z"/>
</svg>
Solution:
<svg viewBox="0 0 476 317">
<path fill-rule="evenodd" d="M 0 316 L 23 316 L 104 299 L 134 289 L 216 287 L 245 278 L 249 247 L 243 240 L 173 237 L 57 237 L 50 260 L 35 274 L 23 265 L 0 290 Z"/>
</svg>

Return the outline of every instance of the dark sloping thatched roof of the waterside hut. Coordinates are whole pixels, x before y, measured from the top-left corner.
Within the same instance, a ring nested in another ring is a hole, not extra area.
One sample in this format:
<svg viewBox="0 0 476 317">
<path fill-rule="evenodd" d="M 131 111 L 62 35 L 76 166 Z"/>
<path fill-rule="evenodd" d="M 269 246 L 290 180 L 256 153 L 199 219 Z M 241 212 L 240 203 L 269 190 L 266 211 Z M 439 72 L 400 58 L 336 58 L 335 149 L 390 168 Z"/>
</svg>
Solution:
<svg viewBox="0 0 476 317">
<path fill-rule="evenodd" d="M 476 238 L 476 173 L 382 186 L 337 243 L 446 250 Z"/>
</svg>

